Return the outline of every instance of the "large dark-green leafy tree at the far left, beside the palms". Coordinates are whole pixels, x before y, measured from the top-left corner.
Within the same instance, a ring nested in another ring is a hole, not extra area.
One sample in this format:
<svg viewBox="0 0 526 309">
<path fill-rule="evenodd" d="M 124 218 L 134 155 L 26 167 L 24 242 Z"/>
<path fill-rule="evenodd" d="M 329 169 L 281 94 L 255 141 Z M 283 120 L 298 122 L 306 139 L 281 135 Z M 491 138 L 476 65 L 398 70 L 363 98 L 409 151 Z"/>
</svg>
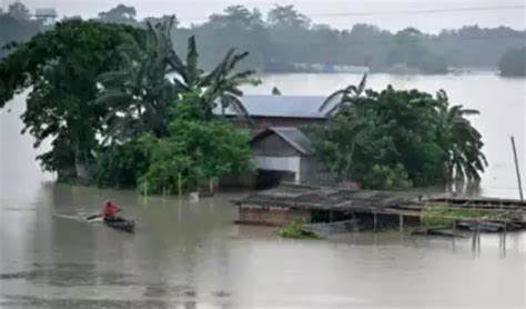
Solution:
<svg viewBox="0 0 526 309">
<path fill-rule="evenodd" d="M 0 107 L 30 89 L 23 131 L 36 138 L 36 147 L 51 140 L 51 150 L 38 159 L 61 180 L 88 177 L 107 116 L 94 100 L 97 77 L 120 67 L 117 49 L 124 33 L 140 37 L 142 31 L 69 20 L 17 46 L 0 62 Z"/>
</svg>

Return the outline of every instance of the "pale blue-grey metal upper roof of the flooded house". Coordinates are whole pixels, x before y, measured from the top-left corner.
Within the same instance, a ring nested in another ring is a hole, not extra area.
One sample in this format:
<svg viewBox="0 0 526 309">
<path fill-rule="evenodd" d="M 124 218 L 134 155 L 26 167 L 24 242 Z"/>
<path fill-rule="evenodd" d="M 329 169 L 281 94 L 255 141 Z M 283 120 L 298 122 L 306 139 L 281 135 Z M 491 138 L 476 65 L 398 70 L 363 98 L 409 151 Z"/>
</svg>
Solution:
<svg viewBox="0 0 526 309">
<path fill-rule="evenodd" d="M 241 101 L 253 117 L 325 118 L 320 112 L 325 97 L 314 96 L 243 96 Z M 226 114 L 233 114 L 226 110 Z M 221 109 L 216 109 L 221 113 Z"/>
</svg>

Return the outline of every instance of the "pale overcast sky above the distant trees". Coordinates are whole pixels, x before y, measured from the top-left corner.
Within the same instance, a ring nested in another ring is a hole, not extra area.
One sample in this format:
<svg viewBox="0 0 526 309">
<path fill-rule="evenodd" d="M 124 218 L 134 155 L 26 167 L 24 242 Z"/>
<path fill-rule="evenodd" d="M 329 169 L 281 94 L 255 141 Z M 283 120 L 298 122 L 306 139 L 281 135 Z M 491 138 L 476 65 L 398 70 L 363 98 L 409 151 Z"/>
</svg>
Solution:
<svg viewBox="0 0 526 309">
<path fill-rule="evenodd" d="M 0 4 L 7 8 L 12 1 L 0 0 Z M 358 22 L 373 23 L 394 31 L 413 26 L 426 32 L 465 24 L 481 27 L 504 24 L 520 30 L 526 28 L 526 0 L 22 0 L 22 2 L 31 10 L 53 7 L 60 16 L 84 18 L 94 17 L 117 3 L 124 3 L 135 7 L 140 18 L 175 13 L 184 26 L 192 22 L 200 23 L 211 13 L 220 12 L 230 4 L 244 4 L 265 13 L 275 3 L 281 3 L 294 4 L 303 13 L 312 17 L 314 22 L 328 23 L 336 28 L 351 28 Z M 350 14 L 323 16 L 334 13 Z"/>
</svg>

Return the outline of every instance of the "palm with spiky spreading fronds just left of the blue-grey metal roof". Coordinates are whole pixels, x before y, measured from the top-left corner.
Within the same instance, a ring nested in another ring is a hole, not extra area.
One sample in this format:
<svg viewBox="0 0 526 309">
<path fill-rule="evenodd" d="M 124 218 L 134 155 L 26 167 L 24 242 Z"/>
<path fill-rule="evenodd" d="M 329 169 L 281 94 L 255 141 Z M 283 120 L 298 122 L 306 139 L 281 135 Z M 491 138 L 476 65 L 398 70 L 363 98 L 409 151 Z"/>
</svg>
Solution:
<svg viewBox="0 0 526 309">
<path fill-rule="evenodd" d="M 186 60 L 173 52 L 171 67 L 178 77 L 173 80 L 180 92 L 194 92 L 201 98 L 203 114 L 206 118 L 213 116 L 218 104 L 224 110 L 230 108 L 235 113 L 249 117 L 249 112 L 240 100 L 243 96 L 240 87 L 244 84 L 257 86 L 261 81 L 254 77 L 255 71 L 245 70 L 237 72 L 235 67 L 246 57 L 249 52 L 235 53 L 230 49 L 223 60 L 210 72 L 205 73 L 199 68 L 199 53 L 195 37 L 189 38 Z"/>
</svg>

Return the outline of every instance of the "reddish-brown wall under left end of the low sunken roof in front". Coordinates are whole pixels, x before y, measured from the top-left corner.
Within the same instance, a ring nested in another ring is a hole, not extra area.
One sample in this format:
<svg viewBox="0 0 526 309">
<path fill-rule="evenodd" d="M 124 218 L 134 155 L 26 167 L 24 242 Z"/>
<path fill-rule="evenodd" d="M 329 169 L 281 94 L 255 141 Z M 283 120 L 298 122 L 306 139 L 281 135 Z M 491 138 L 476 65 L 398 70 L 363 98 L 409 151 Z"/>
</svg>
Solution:
<svg viewBox="0 0 526 309">
<path fill-rule="evenodd" d="M 281 207 L 241 206 L 239 215 L 239 222 L 247 225 L 283 226 L 296 218 L 303 218 L 305 222 L 311 222 L 310 211 Z"/>
</svg>

